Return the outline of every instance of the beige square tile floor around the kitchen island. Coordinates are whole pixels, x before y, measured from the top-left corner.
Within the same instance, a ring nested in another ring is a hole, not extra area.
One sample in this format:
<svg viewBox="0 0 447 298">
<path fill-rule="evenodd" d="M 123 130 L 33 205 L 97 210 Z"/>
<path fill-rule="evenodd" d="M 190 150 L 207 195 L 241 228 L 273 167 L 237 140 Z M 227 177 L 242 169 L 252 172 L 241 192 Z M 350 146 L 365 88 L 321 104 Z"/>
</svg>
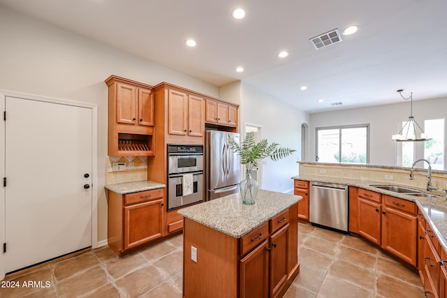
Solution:
<svg viewBox="0 0 447 298">
<path fill-rule="evenodd" d="M 423 297 L 419 276 L 356 237 L 299 228 L 300 274 L 284 297 Z M 6 276 L 0 297 L 182 297 L 182 235 L 117 258 L 108 246 Z M 42 281 L 43 288 L 23 288 Z M 49 287 L 45 287 L 45 281 Z"/>
</svg>

